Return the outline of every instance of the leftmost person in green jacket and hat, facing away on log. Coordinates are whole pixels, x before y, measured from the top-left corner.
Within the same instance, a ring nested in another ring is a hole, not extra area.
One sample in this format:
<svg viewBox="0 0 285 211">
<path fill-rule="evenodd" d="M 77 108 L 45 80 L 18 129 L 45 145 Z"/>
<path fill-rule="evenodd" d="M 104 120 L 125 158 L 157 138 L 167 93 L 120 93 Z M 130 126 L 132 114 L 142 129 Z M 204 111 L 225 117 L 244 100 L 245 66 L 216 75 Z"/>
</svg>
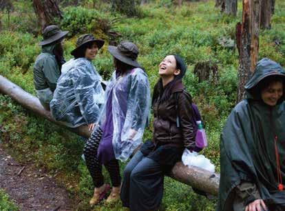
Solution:
<svg viewBox="0 0 285 211">
<path fill-rule="evenodd" d="M 62 44 L 67 33 L 61 31 L 59 26 L 47 26 L 43 30 L 43 41 L 39 43 L 42 48 L 34 63 L 34 88 L 45 110 L 50 110 L 56 82 L 61 76 L 61 66 L 65 63 Z"/>
</svg>

